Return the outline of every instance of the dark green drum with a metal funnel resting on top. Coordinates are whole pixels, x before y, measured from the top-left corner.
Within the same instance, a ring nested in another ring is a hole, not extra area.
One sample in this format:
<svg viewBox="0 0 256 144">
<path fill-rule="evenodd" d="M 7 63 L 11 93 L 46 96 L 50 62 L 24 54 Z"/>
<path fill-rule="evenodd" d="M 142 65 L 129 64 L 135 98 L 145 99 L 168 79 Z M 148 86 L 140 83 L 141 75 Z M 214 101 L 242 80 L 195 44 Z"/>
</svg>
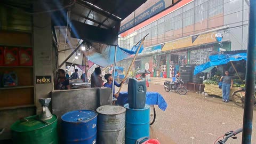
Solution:
<svg viewBox="0 0 256 144">
<path fill-rule="evenodd" d="M 17 121 L 11 126 L 12 141 L 19 144 L 58 144 L 57 116 L 44 122 L 38 121 L 37 116 Z"/>
</svg>

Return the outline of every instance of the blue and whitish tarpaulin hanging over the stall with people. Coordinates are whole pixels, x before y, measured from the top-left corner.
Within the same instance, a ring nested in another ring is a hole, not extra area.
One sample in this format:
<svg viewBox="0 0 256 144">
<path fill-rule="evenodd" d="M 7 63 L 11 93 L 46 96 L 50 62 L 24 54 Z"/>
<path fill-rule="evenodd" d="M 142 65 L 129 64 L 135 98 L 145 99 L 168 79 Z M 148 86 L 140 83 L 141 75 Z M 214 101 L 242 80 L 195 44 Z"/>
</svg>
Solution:
<svg viewBox="0 0 256 144">
<path fill-rule="evenodd" d="M 116 62 L 121 61 L 130 55 L 136 54 L 140 43 L 138 45 L 133 46 L 131 50 L 124 49 L 122 47 L 117 46 L 116 52 Z M 143 50 L 143 45 L 141 45 L 139 53 Z M 115 46 L 107 45 L 105 48 L 102 48 L 100 51 L 95 51 L 88 55 L 88 59 L 99 66 L 106 67 L 114 63 L 115 56 Z"/>
</svg>

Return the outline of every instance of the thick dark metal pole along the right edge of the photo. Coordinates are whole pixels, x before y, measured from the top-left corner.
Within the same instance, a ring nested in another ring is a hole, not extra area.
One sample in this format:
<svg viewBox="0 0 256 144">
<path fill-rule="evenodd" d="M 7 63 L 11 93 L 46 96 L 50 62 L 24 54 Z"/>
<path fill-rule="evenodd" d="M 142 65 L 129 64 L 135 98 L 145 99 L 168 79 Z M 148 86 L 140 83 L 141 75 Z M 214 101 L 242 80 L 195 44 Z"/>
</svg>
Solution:
<svg viewBox="0 0 256 144">
<path fill-rule="evenodd" d="M 245 102 L 242 143 L 251 143 L 255 64 L 256 64 L 256 1 L 250 1 L 249 5 L 249 34 L 247 46 L 246 81 L 245 81 Z"/>
</svg>

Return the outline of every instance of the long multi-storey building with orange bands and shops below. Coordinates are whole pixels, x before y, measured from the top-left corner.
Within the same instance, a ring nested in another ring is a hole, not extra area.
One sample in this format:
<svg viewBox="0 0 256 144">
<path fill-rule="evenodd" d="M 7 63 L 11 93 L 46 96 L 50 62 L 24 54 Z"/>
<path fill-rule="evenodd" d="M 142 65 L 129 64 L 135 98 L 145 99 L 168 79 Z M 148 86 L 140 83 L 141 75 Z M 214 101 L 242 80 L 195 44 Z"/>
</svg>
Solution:
<svg viewBox="0 0 256 144">
<path fill-rule="evenodd" d="M 121 33 L 118 44 L 129 49 L 149 34 L 134 70 L 146 66 L 151 76 L 173 77 L 180 65 L 205 63 L 212 52 L 246 50 L 248 17 L 245 0 L 182 0 Z M 127 70 L 131 61 L 118 65 Z"/>
</svg>

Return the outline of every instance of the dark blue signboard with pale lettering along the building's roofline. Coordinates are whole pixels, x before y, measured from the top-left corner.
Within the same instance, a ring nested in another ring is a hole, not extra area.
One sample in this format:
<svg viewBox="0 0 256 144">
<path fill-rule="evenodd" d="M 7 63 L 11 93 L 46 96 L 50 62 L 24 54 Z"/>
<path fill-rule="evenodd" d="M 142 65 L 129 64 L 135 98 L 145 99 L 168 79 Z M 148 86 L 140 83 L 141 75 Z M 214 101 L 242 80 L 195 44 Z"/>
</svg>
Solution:
<svg viewBox="0 0 256 144">
<path fill-rule="evenodd" d="M 153 17 L 171 5 L 172 1 L 170 0 L 148 0 L 137 10 L 131 13 L 127 18 L 121 21 L 119 34 L 134 27 L 135 25 L 138 25 L 140 22 Z"/>
</svg>

